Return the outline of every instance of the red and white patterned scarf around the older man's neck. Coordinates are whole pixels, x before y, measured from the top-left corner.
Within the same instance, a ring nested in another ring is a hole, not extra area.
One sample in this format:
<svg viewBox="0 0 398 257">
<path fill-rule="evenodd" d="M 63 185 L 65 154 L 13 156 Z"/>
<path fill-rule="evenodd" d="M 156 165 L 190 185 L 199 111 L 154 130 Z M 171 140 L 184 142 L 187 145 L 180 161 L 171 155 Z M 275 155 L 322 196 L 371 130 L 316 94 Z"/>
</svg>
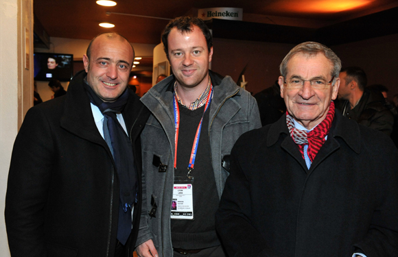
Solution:
<svg viewBox="0 0 398 257">
<path fill-rule="evenodd" d="M 325 119 L 321 123 L 319 123 L 316 127 L 314 127 L 314 130 L 307 133 L 304 130 L 296 129 L 296 127 L 294 127 L 293 118 L 289 115 L 288 112 L 286 112 L 286 124 L 288 124 L 290 136 L 292 136 L 294 143 L 296 143 L 297 146 L 299 147 L 299 150 L 303 158 L 304 158 L 304 145 L 308 145 L 307 154 L 309 160 L 311 160 L 311 162 L 314 161 L 314 158 L 316 154 L 318 154 L 320 147 L 322 147 L 323 144 L 325 143 L 325 136 L 329 133 L 333 118 L 334 118 L 334 103 L 333 101 L 331 101 L 329 111 L 327 112 Z"/>
</svg>

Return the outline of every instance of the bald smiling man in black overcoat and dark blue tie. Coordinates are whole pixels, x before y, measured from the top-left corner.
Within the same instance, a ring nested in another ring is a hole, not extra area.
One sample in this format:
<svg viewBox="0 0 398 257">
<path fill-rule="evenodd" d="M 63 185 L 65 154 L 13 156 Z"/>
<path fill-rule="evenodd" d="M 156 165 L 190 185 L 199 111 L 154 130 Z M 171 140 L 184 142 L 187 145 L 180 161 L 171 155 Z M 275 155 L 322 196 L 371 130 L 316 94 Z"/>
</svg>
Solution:
<svg viewBox="0 0 398 257">
<path fill-rule="evenodd" d="M 126 38 L 100 34 L 68 94 L 27 112 L 5 200 L 12 256 L 132 256 L 149 117 L 127 88 L 133 60 Z"/>
</svg>

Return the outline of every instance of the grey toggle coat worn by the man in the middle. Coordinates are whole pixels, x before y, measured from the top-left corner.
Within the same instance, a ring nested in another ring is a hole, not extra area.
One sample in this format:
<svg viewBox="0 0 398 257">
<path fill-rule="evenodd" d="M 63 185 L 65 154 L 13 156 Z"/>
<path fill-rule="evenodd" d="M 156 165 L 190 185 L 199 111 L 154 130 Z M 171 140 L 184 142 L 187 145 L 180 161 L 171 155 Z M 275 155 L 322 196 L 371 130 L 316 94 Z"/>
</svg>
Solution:
<svg viewBox="0 0 398 257">
<path fill-rule="evenodd" d="M 250 93 L 239 88 L 229 76 L 222 78 L 209 73 L 213 83 L 208 128 L 211 163 L 221 197 L 229 175 L 228 168 L 222 166 L 223 158 L 228 159 L 241 134 L 261 127 L 261 122 L 257 102 Z M 174 81 L 173 76 L 163 79 L 141 98 L 152 114 L 141 134 L 143 203 L 136 245 L 152 239 L 159 257 L 173 256 L 170 213 L 174 183 Z M 162 165 L 167 165 L 165 171 L 161 170 Z"/>
</svg>

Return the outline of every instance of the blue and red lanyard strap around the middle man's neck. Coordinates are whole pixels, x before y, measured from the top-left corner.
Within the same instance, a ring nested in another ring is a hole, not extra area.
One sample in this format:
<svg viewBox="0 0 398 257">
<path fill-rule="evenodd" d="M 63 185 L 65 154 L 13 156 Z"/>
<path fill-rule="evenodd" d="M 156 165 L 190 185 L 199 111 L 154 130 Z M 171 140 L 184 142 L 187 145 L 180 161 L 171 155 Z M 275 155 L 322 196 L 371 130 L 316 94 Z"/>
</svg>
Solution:
<svg viewBox="0 0 398 257">
<path fill-rule="evenodd" d="M 209 108 L 211 99 L 213 98 L 213 87 L 211 87 L 209 95 L 207 96 L 206 106 L 204 107 L 204 111 L 202 114 L 202 119 L 200 119 L 200 123 L 198 125 L 198 129 L 196 130 L 194 145 L 192 146 L 191 150 L 191 158 L 189 158 L 189 165 L 188 165 L 188 175 L 192 169 L 194 169 L 195 158 L 196 158 L 196 151 L 198 151 L 198 143 L 199 143 L 199 136 L 200 130 L 202 129 L 202 121 L 204 117 L 204 112 L 206 112 L 207 108 Z M 174 94 L 174 127 L 175 127 L 175 134 L 174 134 L 174 169 L 177 166 L 177 145 L 178 145 L 178 132 L 180 130 L 180 108 L 178 107 L 177 96 Z"/>
</svg>

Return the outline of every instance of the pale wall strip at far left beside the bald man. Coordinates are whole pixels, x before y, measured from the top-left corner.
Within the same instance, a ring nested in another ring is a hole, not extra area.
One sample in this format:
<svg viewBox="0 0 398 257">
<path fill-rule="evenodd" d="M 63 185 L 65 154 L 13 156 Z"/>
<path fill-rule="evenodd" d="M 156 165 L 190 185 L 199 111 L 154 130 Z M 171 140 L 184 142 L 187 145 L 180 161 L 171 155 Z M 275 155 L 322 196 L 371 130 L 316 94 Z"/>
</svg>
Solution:
<svg viewBox="0 0 398 257">
<path fill-rule="evenodd" d="M 4 223 L 4 199 L 12 145 L 33 104 L 33 1 L 0 1 L 0 256 L 10 256 Z M 25 27 L 29 69 L 25 69 Z"/>
</svg>

